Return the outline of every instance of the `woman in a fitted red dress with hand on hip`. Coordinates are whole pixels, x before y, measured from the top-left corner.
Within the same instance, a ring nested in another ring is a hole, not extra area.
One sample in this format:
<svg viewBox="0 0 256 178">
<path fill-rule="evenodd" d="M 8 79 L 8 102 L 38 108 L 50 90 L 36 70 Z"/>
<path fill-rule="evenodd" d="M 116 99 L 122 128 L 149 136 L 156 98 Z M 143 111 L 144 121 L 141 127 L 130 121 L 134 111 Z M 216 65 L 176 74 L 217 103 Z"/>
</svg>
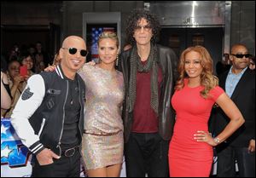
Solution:
<svg viewBox="0 0 256 178">
<path fill-rule="evenodd" d="M 206 177 L 212 168 L 212 146 L 225 141 L 238 129 L 244 118 L 212 74 L 212 58 L 201 46 L 185 49 L 178 66 L 180 77 L 172 96 L 176 123 L 169 147 L 170 176 Z M 223 132 L 212 138 L 208 119 L 217 103 L 230 123 Z"/>
</svg>

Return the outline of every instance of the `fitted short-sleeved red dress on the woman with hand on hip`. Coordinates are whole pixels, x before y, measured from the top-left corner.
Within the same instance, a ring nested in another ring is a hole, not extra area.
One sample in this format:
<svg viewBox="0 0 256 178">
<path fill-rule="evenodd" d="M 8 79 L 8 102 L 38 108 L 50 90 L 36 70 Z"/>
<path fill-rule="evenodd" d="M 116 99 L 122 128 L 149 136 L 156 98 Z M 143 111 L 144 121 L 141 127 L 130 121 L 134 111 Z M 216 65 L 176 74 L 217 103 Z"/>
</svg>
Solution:
<svg viewBox="0 0 256 178">
<path fill-rule="evenodd" d="M 168 153 L 172 177 L 210 175 L 212 146 L 194 140 L 194 134 L 197 130 L 208 131 L 212 106 L 224 90 L 217 86 L 209 92 L 212 97 L 204 99 L 200 95 L 202 89 L 202 86 L 189 88 L 188 79 L 185 79 L 183 89 L 172 96 L 172 106 L 177 114 Z"/>
</svg>

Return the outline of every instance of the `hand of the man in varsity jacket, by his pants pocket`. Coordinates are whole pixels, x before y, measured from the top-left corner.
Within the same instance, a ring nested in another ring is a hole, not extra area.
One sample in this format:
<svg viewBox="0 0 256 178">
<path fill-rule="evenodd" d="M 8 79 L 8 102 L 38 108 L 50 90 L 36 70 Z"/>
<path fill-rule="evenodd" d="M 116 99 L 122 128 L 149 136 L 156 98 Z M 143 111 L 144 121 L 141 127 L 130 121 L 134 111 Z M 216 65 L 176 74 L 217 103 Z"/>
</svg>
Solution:
<svg viewBox="0 0 256 178">
<path fill-rule="evenodd" d="M 37 155 L 38 163 L 40 165 L 53 164 L 53 158 L 58 159 L 61 157 L 50 151 L 48 148 L 44 148 L 44 150 L 39 152 Z"/>
</svg>

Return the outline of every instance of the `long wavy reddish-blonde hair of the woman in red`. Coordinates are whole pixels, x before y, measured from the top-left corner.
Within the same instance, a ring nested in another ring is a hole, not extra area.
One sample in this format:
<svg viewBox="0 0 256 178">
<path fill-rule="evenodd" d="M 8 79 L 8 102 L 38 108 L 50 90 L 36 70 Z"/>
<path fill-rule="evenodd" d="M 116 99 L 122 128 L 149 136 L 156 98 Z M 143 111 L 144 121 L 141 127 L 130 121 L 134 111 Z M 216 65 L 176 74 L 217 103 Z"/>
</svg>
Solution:
<svg viewBox="0 0 256 178">
<path fill-rule="evenodd" d="M 204 87 L 201 90 L 201 96 L 203 98 L 207 98 L 209 96 L 209 92 L 214 87 L 218 86 L 218 78 L 213 75 L 213 67 L 212 67 L 212 57 L 204 47 L 197 45 L 195 47 L 189 47 L 185 49 L 180 56 L 179 65 L 177 71 L 180 76 L 177 79 L 177 83 L 175 89 L 183 89 L 184 87 L 184 78 L 189 78 L 188 74 L 185 72 L 185 56 L 191 52 L 195 51 L 196 53 L 201 55 L 201 66 L 203 70 L 201 72 L 201 86 Z"/>
</svg>

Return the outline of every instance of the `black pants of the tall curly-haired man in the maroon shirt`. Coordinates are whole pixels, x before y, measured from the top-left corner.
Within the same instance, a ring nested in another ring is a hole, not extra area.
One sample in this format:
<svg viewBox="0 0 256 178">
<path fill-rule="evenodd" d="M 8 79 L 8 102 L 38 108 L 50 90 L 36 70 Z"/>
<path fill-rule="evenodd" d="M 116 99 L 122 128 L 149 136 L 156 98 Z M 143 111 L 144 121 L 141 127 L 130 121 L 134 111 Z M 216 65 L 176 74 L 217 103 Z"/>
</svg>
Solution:
<svg viewBox="0 0 256 178">
<path fill-rule="evenodd" d="M 131 133 L 125 143 L 127 177 L 167 177 L 169 141 L 163 141 L 158 133 Z"/>
</svg>

